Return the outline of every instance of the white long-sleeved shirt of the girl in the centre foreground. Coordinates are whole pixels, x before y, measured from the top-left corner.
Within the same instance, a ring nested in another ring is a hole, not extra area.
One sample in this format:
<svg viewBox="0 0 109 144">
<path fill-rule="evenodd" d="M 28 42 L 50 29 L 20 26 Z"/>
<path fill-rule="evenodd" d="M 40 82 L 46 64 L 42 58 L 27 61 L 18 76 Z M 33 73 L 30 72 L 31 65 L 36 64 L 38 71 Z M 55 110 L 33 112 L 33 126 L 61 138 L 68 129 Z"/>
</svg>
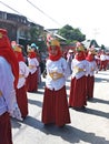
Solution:
<svg viewBox="0 0 109 144">
<path fill-rule="evenodd" d="M 46 79 L 46 86 L 50 90 L 60 90 L 63 85 L 66 85 L 66 78 L 67 78 L 67 61 L 63 58 L 60 58 L 58 61 L 47 60 L 47 79 Z M 51 72 L 62 73 L 63 76 L 58 80 L 52 80 L 49 75 Z"/>
</svg>

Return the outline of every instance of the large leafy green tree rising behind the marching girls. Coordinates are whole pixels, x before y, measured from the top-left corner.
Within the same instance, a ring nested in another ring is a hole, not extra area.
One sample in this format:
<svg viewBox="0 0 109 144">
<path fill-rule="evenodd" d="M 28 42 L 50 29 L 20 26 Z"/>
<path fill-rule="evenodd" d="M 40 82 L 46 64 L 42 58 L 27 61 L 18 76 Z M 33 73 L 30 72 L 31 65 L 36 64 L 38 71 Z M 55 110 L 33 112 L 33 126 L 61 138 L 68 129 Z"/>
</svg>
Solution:
<svg viewBox="0 0 109 144">
<path fill-rule="evenodd" d="M 77 28 L 73 29 L 71 25 L 66 24 L 63 28 L 59 29 L 58 34 L 66 38 L 67 41 L 83 41 L 86 40 L 86 35 L 81 33 L 81 31 Z"/>
</svg>

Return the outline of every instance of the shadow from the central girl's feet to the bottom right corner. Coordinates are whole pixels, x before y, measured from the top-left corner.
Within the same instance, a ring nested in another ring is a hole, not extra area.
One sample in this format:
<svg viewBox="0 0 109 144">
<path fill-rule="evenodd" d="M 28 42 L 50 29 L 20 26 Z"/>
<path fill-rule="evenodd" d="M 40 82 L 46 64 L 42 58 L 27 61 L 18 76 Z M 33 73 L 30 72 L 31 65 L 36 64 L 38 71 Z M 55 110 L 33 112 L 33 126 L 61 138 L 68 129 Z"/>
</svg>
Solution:
<svg viewBox="0 0 109 144">
<path fill-rule="evenodd" d="M 80 141 L 88 142 L 90 144 L 108 144 L 105 137 L 96 136 L 95 133 L 87 133 L 77 127 L 66 125 L 63 128 L 58 128 L 56 126 L 46 127 L 44 133 L 61 136 L 65 141 L 71 144 L 80 143 Z"/>
</svg>

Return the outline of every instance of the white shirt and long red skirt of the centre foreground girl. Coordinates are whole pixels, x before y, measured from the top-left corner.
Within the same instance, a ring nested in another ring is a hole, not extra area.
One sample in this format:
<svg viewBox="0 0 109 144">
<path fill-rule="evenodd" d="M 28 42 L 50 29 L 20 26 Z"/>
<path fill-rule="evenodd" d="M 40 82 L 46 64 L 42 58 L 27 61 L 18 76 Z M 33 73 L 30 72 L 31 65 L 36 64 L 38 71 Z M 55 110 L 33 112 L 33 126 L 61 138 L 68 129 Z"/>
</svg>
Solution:
<svg viewBox="0 0 109 144">
<path fill-rule="evenodd" d="M 47 78 L 41 119 L 43 124 L 63 126 L 70 123 L 66 91 L 67 61 L 60 55 L 58 59 L 49 56 L 46 68 Z"/>
</svg>

